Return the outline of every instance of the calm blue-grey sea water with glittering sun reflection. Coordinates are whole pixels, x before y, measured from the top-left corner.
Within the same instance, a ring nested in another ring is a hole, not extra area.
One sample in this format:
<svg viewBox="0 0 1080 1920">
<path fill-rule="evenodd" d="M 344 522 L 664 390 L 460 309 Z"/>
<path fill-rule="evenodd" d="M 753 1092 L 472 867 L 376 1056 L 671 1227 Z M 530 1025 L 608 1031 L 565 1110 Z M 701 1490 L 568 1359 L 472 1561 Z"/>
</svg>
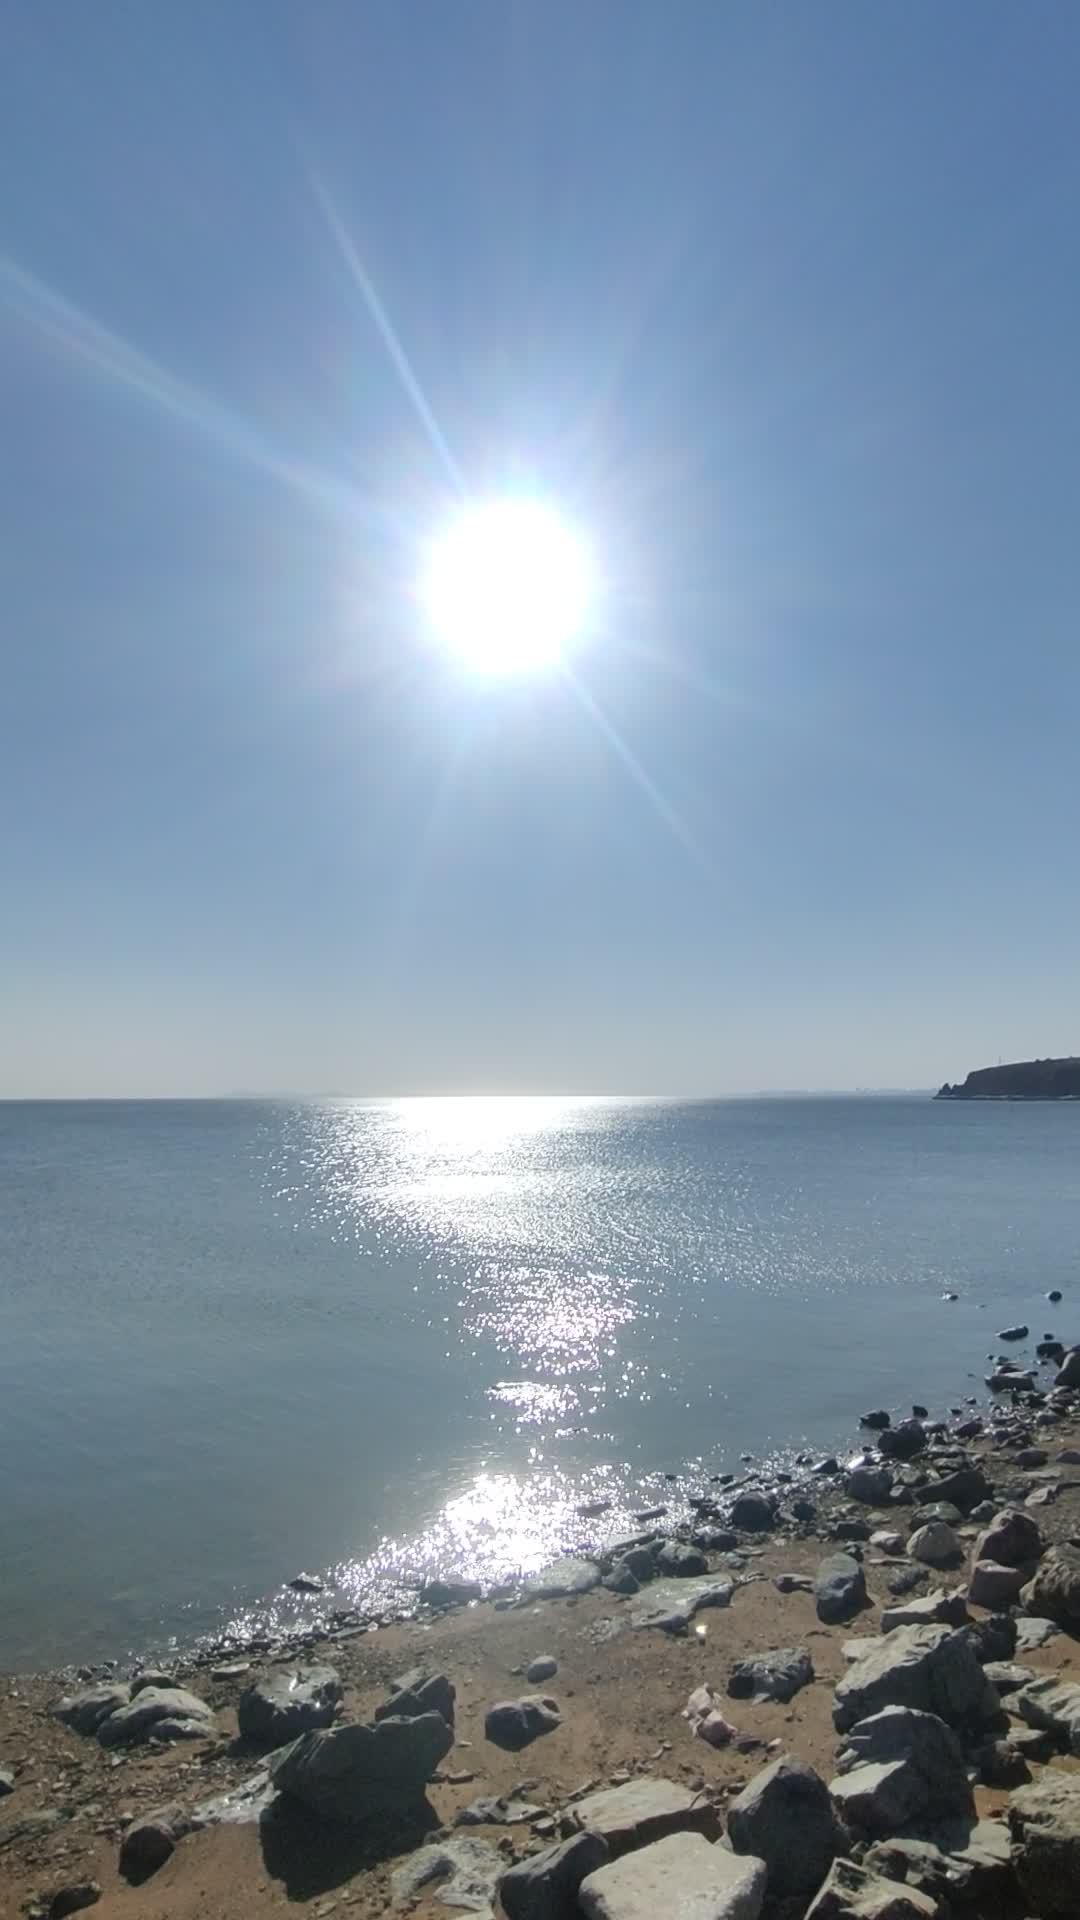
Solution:
<svg viewBox="0 0 1080 1920">
<path fill-rule="evenodd" d="M 1080 1329 L 1078 1150 L 1076 1104 L 0 1106 L 0 1667 L 494 1578 L 957 1402 Z"/>
</svg>

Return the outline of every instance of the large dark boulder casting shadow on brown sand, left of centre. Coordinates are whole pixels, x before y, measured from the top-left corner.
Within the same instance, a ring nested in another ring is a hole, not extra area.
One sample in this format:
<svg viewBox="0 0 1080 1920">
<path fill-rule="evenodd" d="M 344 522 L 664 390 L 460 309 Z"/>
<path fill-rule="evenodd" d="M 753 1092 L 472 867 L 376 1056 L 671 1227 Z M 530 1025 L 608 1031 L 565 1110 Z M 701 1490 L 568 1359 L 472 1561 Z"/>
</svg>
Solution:
<svg viewBox="0 0 1080 1920">
<path fill-rule="evenodd" d="M 454 1745 L 440 1713 L 302 1734 L 271 1755 L 273 1786 L 325 1820 L 367 1820 L 423 1799 Z"/>
</svg>

